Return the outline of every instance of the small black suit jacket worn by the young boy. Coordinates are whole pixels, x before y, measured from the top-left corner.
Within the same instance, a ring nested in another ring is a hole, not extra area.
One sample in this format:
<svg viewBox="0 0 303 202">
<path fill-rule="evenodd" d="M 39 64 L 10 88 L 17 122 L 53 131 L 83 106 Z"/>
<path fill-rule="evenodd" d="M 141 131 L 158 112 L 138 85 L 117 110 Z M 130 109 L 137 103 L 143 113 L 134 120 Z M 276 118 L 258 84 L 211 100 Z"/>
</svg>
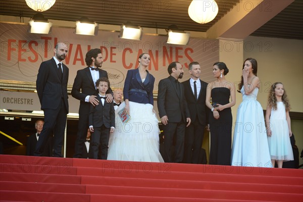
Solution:
<svg viewBox="0 0 303 202">
<path fill-rule="evenodd" d="M 115 127 L 114 102 L 107 103 L 105 101 L 103 106 L 99 94 L 96 93 L 95 95 L 99 100 L 99 105 L 95 107 L 90 105 L 88 126 L 93 126 L 95 128 L 101 127 L 104 124 L 107 128 Z"/>
</svg>

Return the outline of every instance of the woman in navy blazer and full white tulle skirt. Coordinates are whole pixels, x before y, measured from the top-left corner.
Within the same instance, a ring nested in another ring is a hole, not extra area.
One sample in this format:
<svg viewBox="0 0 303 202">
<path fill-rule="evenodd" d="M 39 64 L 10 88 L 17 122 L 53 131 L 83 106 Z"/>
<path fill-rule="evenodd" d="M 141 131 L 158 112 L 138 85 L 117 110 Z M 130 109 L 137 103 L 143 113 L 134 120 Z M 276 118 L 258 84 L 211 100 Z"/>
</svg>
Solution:
<svg viewBox="0 0 303 202">
<path fill-rule="evenodd" d="M 124 101 L 116 110 L 116 130 L 110 136 L 108 160 L 164 162 L 159 151 L 159 126 L 154 111 L 155 77 L 148 71 L 150 57 L 139 56 L 139 67 L 128 70 Z M 130 119 L 122 123 L 119 112 Z"/>
</svg>

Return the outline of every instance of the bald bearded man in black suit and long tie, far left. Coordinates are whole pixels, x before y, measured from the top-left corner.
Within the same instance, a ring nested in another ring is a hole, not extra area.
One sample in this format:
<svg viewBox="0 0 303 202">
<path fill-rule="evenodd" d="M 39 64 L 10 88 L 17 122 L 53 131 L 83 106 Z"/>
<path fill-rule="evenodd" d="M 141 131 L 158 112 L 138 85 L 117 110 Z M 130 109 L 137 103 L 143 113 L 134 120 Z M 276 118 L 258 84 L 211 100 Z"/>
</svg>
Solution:
<svg viewBox="0 0 303 202">
<path fill-rule="evenodd" d="M 62 63 L 68 52 L 65 43 L 56 44 L 55 56 L 41 63 L 37 75 L 36 89 L 44 125 L 36 144 L 34 156 L 42 156 L 49 136 L 54 132 L 53 157 L 62 157 L 62 144 L 68 114 L 67 82 L 69 69 Z"/>
</svg>

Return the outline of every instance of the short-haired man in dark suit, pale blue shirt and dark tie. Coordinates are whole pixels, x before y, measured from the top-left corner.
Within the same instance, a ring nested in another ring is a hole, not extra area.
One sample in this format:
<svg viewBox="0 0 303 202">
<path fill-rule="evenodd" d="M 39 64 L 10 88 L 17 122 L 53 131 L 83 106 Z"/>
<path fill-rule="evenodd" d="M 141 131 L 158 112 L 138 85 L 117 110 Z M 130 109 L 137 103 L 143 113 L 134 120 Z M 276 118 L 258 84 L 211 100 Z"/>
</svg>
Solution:
<svg viewBox="0 0 303 202">
<path fill-rule="evenodd" d="M 197 164 L 204 137 L 204 128 L 209 115 L 205 105 L 207 83 L 200 78 L 201 67 L 198 62 L 188 65 L 190 79 L 182 82 L 188 105 L 191 124 L 185 130 L 183 163 Z"/>
</svg>

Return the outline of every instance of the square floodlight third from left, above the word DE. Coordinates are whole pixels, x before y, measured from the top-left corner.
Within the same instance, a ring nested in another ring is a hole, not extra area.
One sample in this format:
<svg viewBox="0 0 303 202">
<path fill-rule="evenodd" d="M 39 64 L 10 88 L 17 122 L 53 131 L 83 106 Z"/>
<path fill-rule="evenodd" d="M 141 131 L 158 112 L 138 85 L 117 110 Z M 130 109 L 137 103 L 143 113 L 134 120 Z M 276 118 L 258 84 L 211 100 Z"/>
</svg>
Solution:
<svg viewBox="0 0 303 202">
<path fill-rule="evenodd" d="M 121 26 L 119 38 L 141 40 L 142 38 L 142 28 L 132 24 L 131 22 L 126 22 Z"/>
</svg>

